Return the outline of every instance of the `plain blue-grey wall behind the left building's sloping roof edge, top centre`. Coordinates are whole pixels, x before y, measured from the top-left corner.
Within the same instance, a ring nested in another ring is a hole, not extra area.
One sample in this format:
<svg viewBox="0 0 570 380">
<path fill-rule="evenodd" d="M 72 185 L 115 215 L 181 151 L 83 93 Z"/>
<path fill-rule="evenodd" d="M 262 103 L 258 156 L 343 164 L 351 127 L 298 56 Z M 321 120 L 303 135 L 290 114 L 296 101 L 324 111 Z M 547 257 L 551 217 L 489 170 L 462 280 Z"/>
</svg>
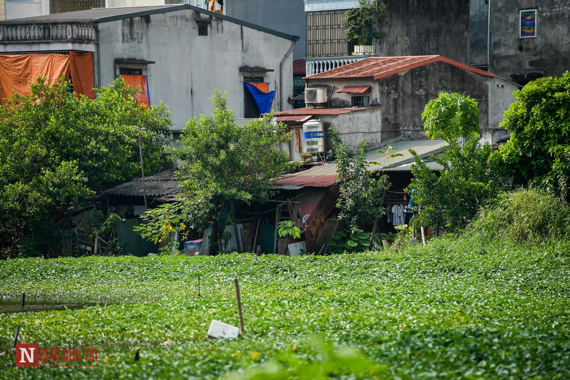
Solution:
<svg viewBox="0 0 570 380">
<path fill-rule="evenodd" d="M 294 59 L 305 58 L 306 26 L 303 0 L 226 0 L 226 15 L 299 36 Z"/>
</svg>

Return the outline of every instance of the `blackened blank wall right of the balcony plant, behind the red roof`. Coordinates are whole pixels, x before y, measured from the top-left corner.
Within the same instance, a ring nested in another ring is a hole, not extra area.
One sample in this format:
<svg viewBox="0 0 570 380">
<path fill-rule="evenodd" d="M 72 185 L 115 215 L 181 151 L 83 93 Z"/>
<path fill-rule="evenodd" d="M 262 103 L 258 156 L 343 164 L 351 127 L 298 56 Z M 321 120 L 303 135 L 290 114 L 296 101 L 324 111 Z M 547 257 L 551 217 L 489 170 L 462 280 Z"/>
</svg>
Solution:
<svg viewBox="0 0 570 380">
<path fill-rule="evenodd" d="M 469 0 L 384 0 L 378 56 L 443 55 L 469 63 Z"/>
</svg>

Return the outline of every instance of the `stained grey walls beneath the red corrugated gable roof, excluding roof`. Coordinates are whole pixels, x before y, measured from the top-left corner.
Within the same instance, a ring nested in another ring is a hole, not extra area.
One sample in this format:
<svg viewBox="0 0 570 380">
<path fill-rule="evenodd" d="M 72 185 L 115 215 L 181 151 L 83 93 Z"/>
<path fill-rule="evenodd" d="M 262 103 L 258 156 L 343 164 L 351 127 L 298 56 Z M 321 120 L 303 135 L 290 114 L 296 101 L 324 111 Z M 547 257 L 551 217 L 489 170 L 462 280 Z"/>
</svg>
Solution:
<svg viewBox="0 0 570 380">
<path fill-rule="evenodd" d="M 457 92 L 478 102 L 479 122 L 483 141 L 495 144 L 509 133 L 499 128 L 503 112 L 515 101 L 518 85 L 495 76 L 465 70 L 445 62 L 430 63 L 378 80 L 372 77 L 307 79 L 307 87 L 327 88 L 331 93 L 345 86 L 370 85 L 369 93 L 333 93 L 330 107 L 351 107 L 352 96 L 368 96 L 369 105 L 380 106 L 335 117 L 321 117 L 335 124 L 346 141 L 356 145 L 368 140 L 380 146 L 402 138 L 426 138 L 421 114 L 425 105 L 439 92 Z M 315 116 L 317 118 L 317 116 Z"/>
</svg>

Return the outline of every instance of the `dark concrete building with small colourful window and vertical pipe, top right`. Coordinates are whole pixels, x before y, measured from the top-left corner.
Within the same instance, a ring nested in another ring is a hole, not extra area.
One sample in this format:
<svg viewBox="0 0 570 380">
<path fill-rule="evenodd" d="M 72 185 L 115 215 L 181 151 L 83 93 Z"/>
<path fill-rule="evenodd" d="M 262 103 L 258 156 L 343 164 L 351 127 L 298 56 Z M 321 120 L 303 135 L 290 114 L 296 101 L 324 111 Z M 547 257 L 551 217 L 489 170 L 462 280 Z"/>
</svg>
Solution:
<svg viewBox="0 0 570 380">
<path fill-rule="evenodd" d="M 570 70 L 566 0 L 471 0 L 470 24 L 474 67 L 519 84 Z"/>
</svg>

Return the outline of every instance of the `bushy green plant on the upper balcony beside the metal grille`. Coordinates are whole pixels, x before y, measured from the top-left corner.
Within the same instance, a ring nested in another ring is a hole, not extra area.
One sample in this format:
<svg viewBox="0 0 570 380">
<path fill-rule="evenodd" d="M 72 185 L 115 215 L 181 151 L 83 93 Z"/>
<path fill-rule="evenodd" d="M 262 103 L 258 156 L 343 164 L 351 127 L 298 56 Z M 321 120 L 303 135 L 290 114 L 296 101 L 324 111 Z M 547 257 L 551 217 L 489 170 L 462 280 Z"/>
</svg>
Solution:
<svg viewBox="0 0 570 380">
<path fill-rule="evenodd" d="M 347 38 L 356 40 L 359 45 L 370 45 L 372 40 L 383 38 L 386 33 L 379 31 L 386 17 L 386 5 L 383 0 L 360 0 L 359 5 L 349 9 L 344 18 Z"/>
</svg>

